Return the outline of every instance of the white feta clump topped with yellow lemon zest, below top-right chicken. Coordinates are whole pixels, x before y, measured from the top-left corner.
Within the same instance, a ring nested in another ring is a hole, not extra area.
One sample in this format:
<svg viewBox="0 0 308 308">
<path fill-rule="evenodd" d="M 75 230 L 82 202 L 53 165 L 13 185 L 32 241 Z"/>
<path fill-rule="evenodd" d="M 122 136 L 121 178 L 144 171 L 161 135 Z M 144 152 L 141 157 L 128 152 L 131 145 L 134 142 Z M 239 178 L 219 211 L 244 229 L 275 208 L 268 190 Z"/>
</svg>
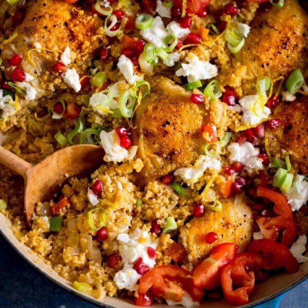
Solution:
<svg viewBox="0 0 308 308">
<path fill-rule="evenodd" d="M 247 95 L 239 100 L 243 111 L 243 122 L 255 125 L 266 119 L 271 114 L 271 109 L 263 106 L 258 94 Z"/>
</svg>

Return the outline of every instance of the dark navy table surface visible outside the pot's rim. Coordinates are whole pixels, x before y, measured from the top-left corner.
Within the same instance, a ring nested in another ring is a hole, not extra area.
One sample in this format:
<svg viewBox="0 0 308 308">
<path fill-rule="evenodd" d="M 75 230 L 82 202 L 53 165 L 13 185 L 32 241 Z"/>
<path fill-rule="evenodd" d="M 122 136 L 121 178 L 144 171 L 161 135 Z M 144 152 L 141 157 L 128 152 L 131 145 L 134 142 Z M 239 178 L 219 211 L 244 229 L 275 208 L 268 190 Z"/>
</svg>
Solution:
<svg viewBox="0 0 308 308">
<path fill-rule="evenodd" d="M 276 303 L 277 304 L 277 303 Z M 275 307 L 269 303 L 263 307 Z M 0 234 L 0 307 L 95 308 L 57 286 L 32 268 Z M 308 307 L 308 280 L 288 291 L 279 308 Z"/>
</svg>

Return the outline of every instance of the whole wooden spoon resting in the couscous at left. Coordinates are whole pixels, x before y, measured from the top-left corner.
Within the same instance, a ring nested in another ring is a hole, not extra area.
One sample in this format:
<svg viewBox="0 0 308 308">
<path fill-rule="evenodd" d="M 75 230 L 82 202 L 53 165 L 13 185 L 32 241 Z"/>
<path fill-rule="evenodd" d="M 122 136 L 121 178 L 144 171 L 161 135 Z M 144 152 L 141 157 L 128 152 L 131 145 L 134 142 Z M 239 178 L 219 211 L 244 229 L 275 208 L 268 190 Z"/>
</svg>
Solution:
<svg viewBox="0 0 308 308">
<path fill-rule="evenodd" d="M 50 200 L 61 184 L 71 177 L 87 175 L 104 163 L 103 148 L 95 145 L 73 145 L 52 153 L 37 165 L 30 164 L 0 146 L 0 163 L 25 179 L 24 208 L 26 220 L 31 217 L 37 202 Z"/>
</svg>

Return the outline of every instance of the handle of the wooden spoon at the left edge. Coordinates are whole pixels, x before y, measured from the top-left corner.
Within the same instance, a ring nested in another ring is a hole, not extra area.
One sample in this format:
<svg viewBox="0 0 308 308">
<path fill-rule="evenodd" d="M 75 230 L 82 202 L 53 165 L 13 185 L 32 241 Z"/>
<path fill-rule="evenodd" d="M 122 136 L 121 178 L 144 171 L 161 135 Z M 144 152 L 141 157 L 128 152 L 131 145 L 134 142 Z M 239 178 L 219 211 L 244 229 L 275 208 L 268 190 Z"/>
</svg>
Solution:
<svg viewBox="0 0 308 308">
<path fill-rule="evenodd" d="M 0 146 L 0 163 L 14 170 L 24 178 L 26 178 L 27 170 L 33 167 L 32 164 L 24 161 L 2 146 Z"/>
</svg>

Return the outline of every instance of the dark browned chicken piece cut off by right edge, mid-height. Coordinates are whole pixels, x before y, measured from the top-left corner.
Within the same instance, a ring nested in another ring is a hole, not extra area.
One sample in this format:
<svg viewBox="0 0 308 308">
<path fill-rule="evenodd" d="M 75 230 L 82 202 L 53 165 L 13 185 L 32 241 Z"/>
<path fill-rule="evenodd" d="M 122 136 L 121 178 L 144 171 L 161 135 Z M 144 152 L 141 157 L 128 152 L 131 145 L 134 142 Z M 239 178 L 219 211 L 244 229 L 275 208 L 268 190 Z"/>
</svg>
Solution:
<svg viewBox="0 0 308 308">
<path fill-rule="evenodd" d="M 286 150 L 291 153 L 293 162 L 308 171 L 308 98 L 280 103 L 272 117 L 281 120 L 280 126 L 269 130 L 272 154 L 279 155 L 281 150 Z"/>
</svg>

